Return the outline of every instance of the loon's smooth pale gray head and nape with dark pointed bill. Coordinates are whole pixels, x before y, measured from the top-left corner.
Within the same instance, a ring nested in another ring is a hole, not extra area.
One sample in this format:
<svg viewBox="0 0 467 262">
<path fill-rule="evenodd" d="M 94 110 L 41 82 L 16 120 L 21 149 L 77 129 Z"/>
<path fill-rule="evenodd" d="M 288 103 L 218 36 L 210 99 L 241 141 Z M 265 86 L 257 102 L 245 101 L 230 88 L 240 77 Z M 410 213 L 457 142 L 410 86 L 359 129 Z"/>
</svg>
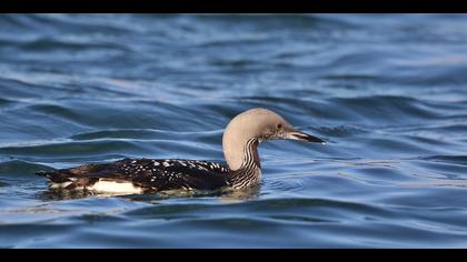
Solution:
<svg viewBox="0 0 467 262">
<path fill-rule="evenodd" d="M 248 141 L 259 142 L 271 139 L 290 139 L 305 142 L 322 140 L 294 129 L 282 117 L 268 109 L 250 109 L 235 117 L 223 132 L 222 147 L 226 161 L 231 170 L 237 170 L 244 162 L 245 147 Z M 255 155 L 256 153 L 255 147 Z M 259 163 L 259 159 L 257 159 Z"/>
</svg>

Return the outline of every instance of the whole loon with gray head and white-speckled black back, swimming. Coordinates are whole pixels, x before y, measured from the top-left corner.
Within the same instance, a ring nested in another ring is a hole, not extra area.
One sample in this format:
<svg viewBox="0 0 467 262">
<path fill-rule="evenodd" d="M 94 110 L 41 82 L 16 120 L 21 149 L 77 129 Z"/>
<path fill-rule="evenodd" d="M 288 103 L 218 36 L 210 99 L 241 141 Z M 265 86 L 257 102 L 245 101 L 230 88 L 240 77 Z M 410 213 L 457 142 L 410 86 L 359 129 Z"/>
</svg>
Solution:
<svg viewBox="0 0 467 262">
<path fill-rule="evenodd" d="M 122 159 L 37 174 L 47 178 L 52 189 L 95 193 L 238 190 L 259 184 L 261 164 L 257 148 L 259 143 L 272 139 L 325 143 L 297 131 L 279 114 L 256 108 L 235 117 L 223 132 L 222 149 L 228 167 L 198 160 Z"/>
</svg>

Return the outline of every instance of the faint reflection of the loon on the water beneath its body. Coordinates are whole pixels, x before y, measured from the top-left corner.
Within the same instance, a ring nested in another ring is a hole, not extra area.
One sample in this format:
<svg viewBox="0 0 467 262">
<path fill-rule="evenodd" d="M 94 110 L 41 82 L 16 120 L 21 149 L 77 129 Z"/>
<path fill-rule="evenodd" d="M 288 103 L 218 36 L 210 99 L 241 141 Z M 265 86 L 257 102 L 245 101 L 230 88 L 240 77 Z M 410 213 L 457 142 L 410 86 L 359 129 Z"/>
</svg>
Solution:
<svg viewBox="0 0 467 262">
<path fill-rule="evenodd" d="M 258 198 L 260 192 L 260 185 L 251 187 L 241 190 L 231 190 L 222 189 L 216 191 L 199 191 L 199 190 L 171 190 L 171 191 L 161 191 L 146 194 L 106 194 L 106 193 L 96 193 L 89 190 L 63 190 L 63 189 L 51 189 L 49 188 L 46 191 L 38 193 L 38 199 L 42 201 L 60 201 L 60 200 L 73 200 L 73 199 L 85 199 L 89 196 L 93 198 L 125 198 L 131 201 L 138 202 L 152 202 L 167 199 L 190 199 L 190 198 L 219 198 L 221 202 L 236 202 L 252 200 Z"/>
</svg>

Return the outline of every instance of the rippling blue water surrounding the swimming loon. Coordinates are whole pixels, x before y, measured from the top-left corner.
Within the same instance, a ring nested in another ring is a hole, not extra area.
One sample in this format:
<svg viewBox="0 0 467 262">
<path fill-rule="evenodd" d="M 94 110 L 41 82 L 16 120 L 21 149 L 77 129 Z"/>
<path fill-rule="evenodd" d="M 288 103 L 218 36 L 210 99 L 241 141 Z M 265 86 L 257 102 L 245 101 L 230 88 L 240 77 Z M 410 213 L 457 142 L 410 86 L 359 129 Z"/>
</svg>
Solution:
<svg viewBox="0 0 467 262">
<path fill-rule="evenodd" d="M 467 16 L 0 16 L 1 248 L 467 248 Z M 264 107 L 328 144 L 260 147 L 236 194 L 58 195 L 33 173 L 223 161 Z"/>
</svg>

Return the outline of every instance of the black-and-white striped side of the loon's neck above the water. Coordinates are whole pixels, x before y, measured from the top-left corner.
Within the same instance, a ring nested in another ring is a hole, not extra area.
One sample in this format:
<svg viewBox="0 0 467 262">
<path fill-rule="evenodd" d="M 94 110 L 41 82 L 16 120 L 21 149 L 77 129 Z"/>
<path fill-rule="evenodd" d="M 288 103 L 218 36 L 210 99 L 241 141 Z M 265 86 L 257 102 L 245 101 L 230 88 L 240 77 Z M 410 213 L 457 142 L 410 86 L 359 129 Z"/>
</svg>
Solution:
<svg viewBox="0 0 467 262">
<path fill-rule="evenodd" d="M 230 174 L 235 189 L 247 188 L 261 181 L 261 163 L 258 154 L 258 139 L 249 139 L 244 147 L 244 159 L 240 168 Z"/>
</svg>

